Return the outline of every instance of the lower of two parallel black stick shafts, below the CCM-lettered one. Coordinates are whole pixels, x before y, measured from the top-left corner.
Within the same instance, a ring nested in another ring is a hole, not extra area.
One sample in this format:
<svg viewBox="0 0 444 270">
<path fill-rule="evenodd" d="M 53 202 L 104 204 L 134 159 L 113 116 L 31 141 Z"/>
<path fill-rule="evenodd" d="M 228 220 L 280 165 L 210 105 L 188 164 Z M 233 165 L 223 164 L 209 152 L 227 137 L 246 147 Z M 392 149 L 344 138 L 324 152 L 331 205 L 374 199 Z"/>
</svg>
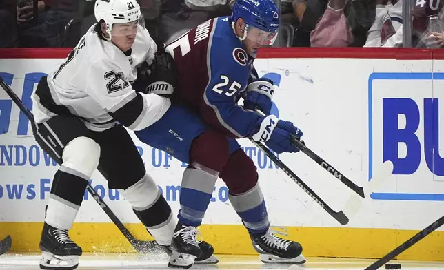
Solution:
<svg viewBox="0 0 444 270">
<path fill-rule="evenodd" d="M 270 149 L 265 147 L 265 145 L 263 145 L 262 143 L 254 141 L 252 138 L 250 138 L 250 141 L 254 143 L 256 147 L 259 147 L 259 149 L 261 149 L 268 156 L 268 158 L 270 158 L 276 165 L 278 165 L 278 167 L 282 169 L 283 172 L 287 174 L 287 176 L 292 178 L 292 180 L 296 184 L 298 184 L 299 187 L 301 187 L 301 189 L 303 189 L 303 191 L 305 191 L 305 193 L 308 194 L 308 196 L 310 196 L 316 203 L 318 203 L 318 205 L 320 205 L 325 211 L 327 211 L 327 213 L 330 214 L 330 216 L 332 216 L 335 220 L 341 223 L 341 225 L 346 225 L 348 223 L 349 220 L 347 216 L 345 216 L 343 211 L 339 212 L 334 211 L 332 207 L 327 205 L 327 203 L 325 203 L 321 199 L 321 197 L 319 197 L 318 194 L 316 194 L 312 189 L 310 189 L 310 187 L 308 187 L 307 184 L 303 183 L 303 180 L 301 180 L 301 178 L 296 176 L 296 174 L 294 174 L 294 172 L 292 172 L 292 170 L 288 168 L 287 165 L 285 165 L 277 156 L 275 156 L 273 152 L 270 151 Z"/>
</svg>

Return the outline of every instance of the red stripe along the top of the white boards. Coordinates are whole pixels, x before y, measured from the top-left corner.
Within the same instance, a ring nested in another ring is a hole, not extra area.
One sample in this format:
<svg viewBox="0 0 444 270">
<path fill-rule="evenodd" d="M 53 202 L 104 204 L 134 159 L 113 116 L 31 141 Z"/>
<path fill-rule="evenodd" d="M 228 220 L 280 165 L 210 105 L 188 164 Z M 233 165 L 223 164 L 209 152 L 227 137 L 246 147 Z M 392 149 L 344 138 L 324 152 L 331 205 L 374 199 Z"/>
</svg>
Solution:
<svg viewBox="0 0 444 270">
<path fill-rule="evenodd" d="M 0 49 L 0 59 L 65 59 L 72 48 Z M 444 50 L 414 48 L 261 48 L 258 58 L 444 59 Z"/>
</svg>

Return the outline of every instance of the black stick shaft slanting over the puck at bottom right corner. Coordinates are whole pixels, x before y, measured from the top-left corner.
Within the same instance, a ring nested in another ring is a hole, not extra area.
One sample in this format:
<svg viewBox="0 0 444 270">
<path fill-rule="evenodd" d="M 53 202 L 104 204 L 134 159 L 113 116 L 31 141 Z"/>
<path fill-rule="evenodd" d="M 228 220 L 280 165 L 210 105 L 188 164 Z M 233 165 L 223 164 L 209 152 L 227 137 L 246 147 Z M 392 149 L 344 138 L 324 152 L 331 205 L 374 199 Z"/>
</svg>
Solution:
<svg viewBox="0 0 444 270">
<path fill-rule="evenodd" d="M 409 240 L 403 242 L 399 247 L 396 247 L 393 251 L 390 251 L 390 253 L 387 253 L 383 258 L 376 260 L 373 264 L 371 264 L 369 267 L 367 267 L 365 270 L 376 270 L 379 269 L 379 267 L 382 267 L 387 262 L 390 262 L 390 260 L 393 260 L 396 256 L 403 253 L 405 250 L 412 247 L 412 245 L 415 245 L 417 242 L 425 238 L 425 236 L 428 236 L 432 231 L 438 229 L 444 224 L 444 216 L 433 222 L 431 225 L 429 225 L 427 228 L 423 229 L 422 231 L 416 233 L 412 238 Z"/>
</svg>

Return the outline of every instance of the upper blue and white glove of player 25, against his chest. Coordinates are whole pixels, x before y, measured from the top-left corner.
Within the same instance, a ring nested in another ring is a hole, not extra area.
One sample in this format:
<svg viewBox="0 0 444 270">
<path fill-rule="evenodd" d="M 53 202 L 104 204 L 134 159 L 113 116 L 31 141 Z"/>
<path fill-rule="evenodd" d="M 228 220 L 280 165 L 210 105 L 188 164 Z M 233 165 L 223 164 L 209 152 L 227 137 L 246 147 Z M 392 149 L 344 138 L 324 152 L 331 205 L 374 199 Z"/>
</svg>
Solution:
<svg viewBox="0 0 444 270">
<path fill-rule="evenodd" d="M 259 109 L 264 114 L 270 114 L 274 94 L 273 81 L 270 79 L 256 79 L 245 90 L 243 107 L 246 110 Z"/>
</svg>

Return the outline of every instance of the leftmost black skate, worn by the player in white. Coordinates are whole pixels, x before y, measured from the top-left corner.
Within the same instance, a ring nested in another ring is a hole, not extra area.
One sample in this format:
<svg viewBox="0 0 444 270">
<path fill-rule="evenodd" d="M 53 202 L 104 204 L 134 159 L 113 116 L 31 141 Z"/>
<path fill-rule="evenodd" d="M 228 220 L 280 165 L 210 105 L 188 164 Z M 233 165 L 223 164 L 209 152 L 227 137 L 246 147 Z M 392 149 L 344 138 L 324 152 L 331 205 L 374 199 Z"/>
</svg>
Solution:
<svg viewBox="0 0 444 270">
<path fill-rule="evenodd" d="M 57 229 L 45 222 L 39 247 L 42 251 L 40 269 L 71 270 L 79 266 L 82 249 L 65 229 Z"/>
</svg>

